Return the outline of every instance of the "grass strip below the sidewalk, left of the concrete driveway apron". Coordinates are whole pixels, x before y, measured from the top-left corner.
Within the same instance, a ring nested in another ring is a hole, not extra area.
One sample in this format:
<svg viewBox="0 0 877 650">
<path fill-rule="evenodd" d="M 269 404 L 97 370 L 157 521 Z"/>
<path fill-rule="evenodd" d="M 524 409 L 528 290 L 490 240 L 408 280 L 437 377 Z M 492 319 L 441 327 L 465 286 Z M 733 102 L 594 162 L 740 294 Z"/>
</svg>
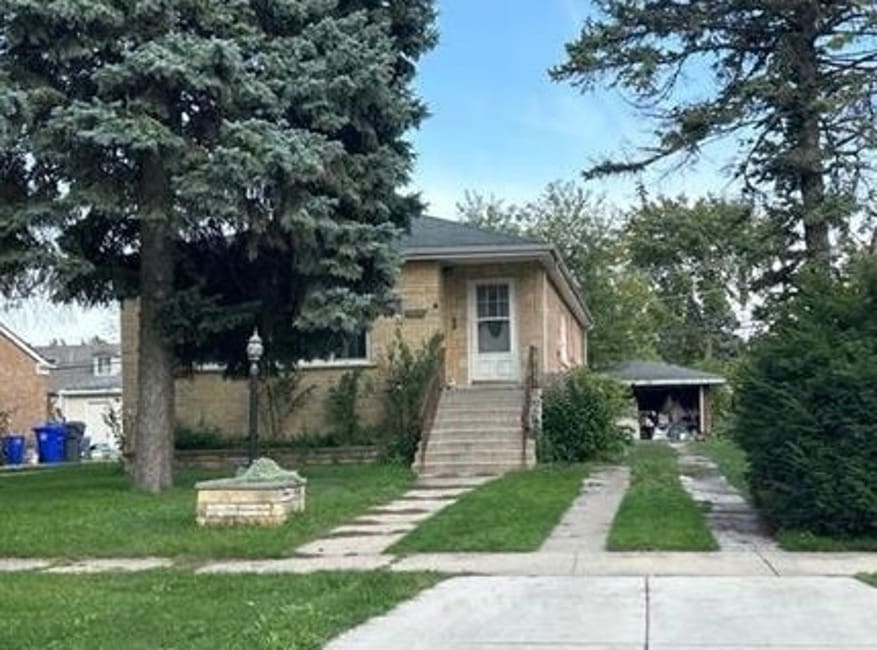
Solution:
<svg viewBox="0 0 877 650">
<path fill-rule="evenodd" d="M 321 648 L 439 580 L 434 574 L 7 574 L 3 647 Z"/>
</svg>

